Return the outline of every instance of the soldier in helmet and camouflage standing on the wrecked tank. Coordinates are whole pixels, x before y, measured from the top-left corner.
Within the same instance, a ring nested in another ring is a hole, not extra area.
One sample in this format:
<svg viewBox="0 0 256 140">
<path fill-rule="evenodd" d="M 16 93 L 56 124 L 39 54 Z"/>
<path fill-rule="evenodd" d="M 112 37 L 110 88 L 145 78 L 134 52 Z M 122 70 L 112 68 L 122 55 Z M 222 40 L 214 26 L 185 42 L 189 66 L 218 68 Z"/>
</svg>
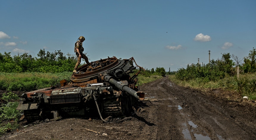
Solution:
<svg viewBox="0 0 256 140">
<path fill-rule="evenodd" d="M 73 73 L 77 72 L 77 67 L 80 65 L 81 63 L 81 59 L 85 59 L 85 62 L 87 65 L 90 65 L 90 62 L 88 61 L 88 57 L 83 54 L 84 48 L 83 48 L 83 42 L 85 41 L 85 37 L 80 36 L 78 39 L 78 41 L 75 43 L 75 48 L 74 51 L 77 55 L 77 64 L 74 67 Z"/>
</svg>

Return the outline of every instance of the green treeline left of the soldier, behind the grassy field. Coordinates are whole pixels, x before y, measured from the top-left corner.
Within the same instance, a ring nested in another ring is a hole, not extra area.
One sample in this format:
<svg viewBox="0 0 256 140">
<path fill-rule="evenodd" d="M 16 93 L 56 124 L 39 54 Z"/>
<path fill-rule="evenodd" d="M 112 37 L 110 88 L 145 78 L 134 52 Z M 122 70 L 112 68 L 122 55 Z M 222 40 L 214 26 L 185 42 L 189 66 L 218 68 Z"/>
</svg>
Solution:
<svg viewBox="0 0 256 140">
<path fill-rule="evenodd" d="M 11 56 L 11 53 L 0 53 L 0 72 L 21 73 L 61 73 L 73 71 L 77 62 L 77 56 L 67 54 L 65 56 L 60 50 L 50 53 L 40 49 L 38 57 L 33 57 L 28 53 Z"/>
</svg>

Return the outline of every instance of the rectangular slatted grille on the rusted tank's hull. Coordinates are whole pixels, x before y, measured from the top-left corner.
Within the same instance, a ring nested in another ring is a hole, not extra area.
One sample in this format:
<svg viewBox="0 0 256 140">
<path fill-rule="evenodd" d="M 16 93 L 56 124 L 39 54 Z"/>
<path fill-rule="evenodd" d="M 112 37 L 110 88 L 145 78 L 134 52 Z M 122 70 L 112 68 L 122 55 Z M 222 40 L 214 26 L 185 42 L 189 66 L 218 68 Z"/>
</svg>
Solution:
<svg viewBox="0 0 256 140">
<path fill-rule="evenodd" d="M 51 95 L 50 103 L 59 104 L 59 103 L 79 103 L 80 94 L 68 94 L 68 95 Z"/>
</svg>

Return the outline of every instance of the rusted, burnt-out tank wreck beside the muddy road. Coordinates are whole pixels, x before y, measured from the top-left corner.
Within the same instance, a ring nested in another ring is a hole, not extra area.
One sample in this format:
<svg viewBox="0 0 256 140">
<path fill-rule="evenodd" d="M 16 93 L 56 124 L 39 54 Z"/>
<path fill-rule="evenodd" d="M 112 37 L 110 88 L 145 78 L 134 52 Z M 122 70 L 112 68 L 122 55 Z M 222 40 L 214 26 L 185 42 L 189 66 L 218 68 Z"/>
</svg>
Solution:
<svg viewBox="0 0 256 140">
<path fill-rule="evenodd" d="M 133 70 L 139 68 L 134 75 Z M 57 120 L 63 117 L 125 117 L 145 93 L 139 91 L 137 76 L 144 70 L 135 60 L 115 56 L 82 65 L 70 80 L 60 81 L 60 87 L 49 87 L 21 95 L 17 110 L 24 111 L 28 122 Z"/>
</svg>

